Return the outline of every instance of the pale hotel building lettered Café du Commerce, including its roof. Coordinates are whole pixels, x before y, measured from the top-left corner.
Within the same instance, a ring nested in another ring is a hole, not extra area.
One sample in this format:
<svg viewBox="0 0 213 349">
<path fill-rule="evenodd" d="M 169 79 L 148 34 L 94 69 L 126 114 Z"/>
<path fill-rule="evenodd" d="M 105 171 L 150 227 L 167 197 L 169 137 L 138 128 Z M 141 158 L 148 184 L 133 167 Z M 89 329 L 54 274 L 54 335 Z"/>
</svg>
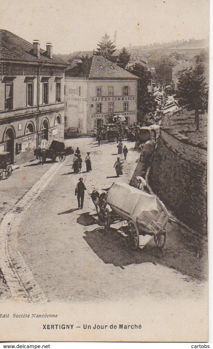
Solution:
<svg viewBox="0 0 213 349">
<path fill-rule="evenodd" d="M 102 56 L 89 58 L 65 72 L 65 129 L 89 134 L 111 114 L 127 124 L 137 120 L 137 79 Z"/>
</svg>

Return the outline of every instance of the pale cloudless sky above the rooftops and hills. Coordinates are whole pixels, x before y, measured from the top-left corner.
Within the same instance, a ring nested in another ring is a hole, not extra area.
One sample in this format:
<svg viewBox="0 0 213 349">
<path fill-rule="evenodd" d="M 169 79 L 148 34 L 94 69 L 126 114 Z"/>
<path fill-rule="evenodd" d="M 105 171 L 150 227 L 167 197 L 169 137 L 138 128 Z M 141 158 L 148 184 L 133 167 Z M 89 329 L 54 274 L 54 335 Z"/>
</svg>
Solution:
<svg viewBox="0 0 213 349">
<path fill-rule="evenodd" d="M 0 28 L 54 54 L 90 51 L 107 32 L 116 47 L 209 35 L 208 0 L 0 0 Z"/>
</svg>

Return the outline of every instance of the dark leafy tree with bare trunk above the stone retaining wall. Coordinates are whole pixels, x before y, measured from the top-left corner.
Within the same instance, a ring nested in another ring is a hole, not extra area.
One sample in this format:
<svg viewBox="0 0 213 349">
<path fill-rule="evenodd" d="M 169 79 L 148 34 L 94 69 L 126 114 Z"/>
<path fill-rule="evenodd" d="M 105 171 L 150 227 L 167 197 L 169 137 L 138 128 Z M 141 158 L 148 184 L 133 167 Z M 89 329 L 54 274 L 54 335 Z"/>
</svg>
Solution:
<svg viewBox="0 0 213 349">
<path fill-rule="evenodd" d="M 179 104 L 188 111 L 195 110 L 196 130 L 199 130 L 199 113 L 208 109 L 208 88 L 205 82 L 204 65 L 197 64 L 195 69 L 181 74 L 178 83 Z"/>
</svg>

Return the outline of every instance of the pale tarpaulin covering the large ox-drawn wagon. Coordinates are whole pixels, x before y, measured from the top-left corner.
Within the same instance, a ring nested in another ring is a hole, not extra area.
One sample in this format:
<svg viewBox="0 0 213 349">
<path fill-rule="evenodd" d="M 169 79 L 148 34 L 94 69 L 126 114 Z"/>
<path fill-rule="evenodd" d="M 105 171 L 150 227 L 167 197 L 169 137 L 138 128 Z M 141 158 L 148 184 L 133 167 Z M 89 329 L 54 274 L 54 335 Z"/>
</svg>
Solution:
<svg viewBox="0 0 213 349">
<path fill-rule="evenodd" d="M 158 211 L 154 195 L 142 192 L 124 183 L 112 184 L 108 191 L 107 202 L 109 205 L 116 206 L 128 213 L 135 222 L 137 216 L 143 211 Z"/>
</svg>

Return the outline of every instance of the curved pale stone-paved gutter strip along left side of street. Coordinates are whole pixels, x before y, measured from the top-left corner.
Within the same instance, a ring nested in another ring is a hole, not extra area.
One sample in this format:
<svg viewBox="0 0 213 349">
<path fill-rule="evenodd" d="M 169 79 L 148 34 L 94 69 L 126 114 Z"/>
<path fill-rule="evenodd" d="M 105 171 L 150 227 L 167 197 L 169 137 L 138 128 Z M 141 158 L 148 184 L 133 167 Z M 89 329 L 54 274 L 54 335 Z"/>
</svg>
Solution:
<svg viewBox="0 0 213 349">
<path fill-rule="evenodd" d="M 46 303 L 48 301 L 18 250 L 17 236 L 21 224 L 21 214 L 38 198 L 65 162 L 54 163 L 4 216 L 0 224 L 0 267 L 15 300 L 30 303 Z"/>
</svg>

